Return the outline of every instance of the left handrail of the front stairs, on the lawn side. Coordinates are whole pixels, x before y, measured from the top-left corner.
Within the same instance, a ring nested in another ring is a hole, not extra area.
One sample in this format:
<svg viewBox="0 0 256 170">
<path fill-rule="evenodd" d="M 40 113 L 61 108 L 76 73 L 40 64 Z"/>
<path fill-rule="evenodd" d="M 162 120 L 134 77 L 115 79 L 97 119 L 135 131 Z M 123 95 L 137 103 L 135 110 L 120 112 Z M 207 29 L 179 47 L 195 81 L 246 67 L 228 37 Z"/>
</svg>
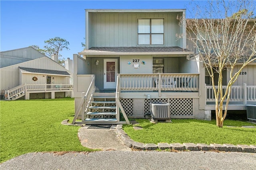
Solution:
<svg viewBox="0 0 256 170">
<path fill-rule="evenodd" d="M 94 92 L 95 92 L 95 75 L 93 75 L 92 77 L 92 81 L 88 87 L 88 90 L 86 92 L 86 94 L 84 96 L 82 96 L 82 99 L 78 105 L 78 108 L 76 110 L 76 113 L 75 113 L 75 116 L 74 116 L 74 119 L 72 121 L 72 124 L 74 125 L 76 122 L 76 119 L 78 118 L 78 115 L 81 111 L 82 108 L 85 108 L 85 114 L 87 114 L 88 112 L 88 108 L 90 107 L 90 104 L 91 104 L 91 101 L 92 101 L 92 97 L 94 95 Z M 83 107 L 84 106 L 84 107 Z M 82 113 L 82 121 L 84 121 L 84 113 Z"/>
</svg>

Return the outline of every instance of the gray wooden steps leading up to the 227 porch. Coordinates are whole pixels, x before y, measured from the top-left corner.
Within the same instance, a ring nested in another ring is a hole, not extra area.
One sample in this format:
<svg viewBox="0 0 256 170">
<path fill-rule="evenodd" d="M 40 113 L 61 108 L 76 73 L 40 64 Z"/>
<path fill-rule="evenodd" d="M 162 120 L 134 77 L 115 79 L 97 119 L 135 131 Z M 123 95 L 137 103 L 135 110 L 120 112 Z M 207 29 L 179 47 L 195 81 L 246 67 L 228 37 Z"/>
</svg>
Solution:
<svg viewBox="0 0 256 170">
<path fill-rule="evenodd" d="M 102 93 L 104 94 L 104 93 Z M 101 95 L 99 93 L 99 95 Z M 86 124 L 116 124 L 118 123 L 116 113 L 116 97 L 113 96 L 94 96 L 89 107 L 85 112 Z"/>
</svg>

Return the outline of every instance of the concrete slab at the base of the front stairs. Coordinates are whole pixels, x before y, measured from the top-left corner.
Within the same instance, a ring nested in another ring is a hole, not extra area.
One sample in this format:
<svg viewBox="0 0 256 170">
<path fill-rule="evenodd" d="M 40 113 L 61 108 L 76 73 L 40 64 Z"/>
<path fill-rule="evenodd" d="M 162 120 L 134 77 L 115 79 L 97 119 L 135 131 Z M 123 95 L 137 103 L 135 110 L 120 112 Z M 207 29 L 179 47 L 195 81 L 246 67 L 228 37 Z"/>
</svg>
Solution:
<svg viewBox="0 0 256 170">
<path fill-rule="evenodd" d="M 102 150 L 131 150 L 118 137 L 114 129 L 87 129 L 78 131 L 82 146 Z"/>
</svg>

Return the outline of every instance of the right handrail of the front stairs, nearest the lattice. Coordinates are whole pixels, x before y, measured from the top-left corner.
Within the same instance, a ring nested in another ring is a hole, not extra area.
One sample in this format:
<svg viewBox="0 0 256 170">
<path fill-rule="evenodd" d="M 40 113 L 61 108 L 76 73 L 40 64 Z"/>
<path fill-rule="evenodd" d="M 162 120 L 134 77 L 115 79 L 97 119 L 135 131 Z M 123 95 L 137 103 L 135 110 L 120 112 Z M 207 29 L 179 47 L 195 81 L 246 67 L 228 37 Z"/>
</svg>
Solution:
<svg viewBox="0 0 256 170">
<path fill-rule="evenodd" d="M 118 114 L 118 119 L 120 118 L 120 111 L 119 111 L 119 108 L 124 116 L 124 119 L 126 121 L 126 123 L 128 125 L 130 125 L 130 121 L 124 111 L 124 108 L 122 107 L 122 104 L 120 102 L 120 75 L 118 74 L 117 75 L 117 80 L 116 80 L 116 111 L 117 111 L 117 114 Z M 119 121 L 119 120 L 118 120 Z"/>
</svg>

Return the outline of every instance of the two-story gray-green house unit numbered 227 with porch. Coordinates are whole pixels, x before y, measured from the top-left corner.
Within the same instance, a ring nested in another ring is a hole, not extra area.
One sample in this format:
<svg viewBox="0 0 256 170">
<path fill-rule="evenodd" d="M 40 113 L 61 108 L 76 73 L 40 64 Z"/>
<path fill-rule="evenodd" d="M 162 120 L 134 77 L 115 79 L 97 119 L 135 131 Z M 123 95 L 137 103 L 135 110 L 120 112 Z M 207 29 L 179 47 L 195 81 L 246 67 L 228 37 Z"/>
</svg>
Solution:
<svg viewBox="0 0 256 170">
<path fill-rule="evenodd" d="M 186 10 L 86 10 L 86 48 L 73 56 L 75 119 L 129 123 L 150 115 L 150 103 L 169 103 L 171 118 L 211 119 L 207 75 L 176 38 L 186 37 L 178 15 Z"/>
</svg>

